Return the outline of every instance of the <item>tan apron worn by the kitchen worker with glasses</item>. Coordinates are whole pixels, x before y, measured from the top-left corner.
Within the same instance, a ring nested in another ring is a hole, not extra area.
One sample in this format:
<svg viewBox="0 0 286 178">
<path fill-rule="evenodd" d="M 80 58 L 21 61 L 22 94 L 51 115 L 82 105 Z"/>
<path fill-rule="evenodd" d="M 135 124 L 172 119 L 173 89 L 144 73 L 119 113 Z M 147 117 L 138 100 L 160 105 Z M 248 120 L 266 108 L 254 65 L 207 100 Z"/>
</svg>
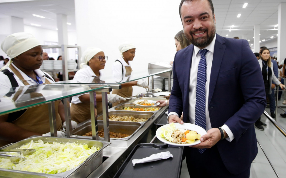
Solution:
<svg viewBox="0 0 286 178">
<path fill-rule="evenodd" d="M 96 91 L 96 95 L 101 95 L 101 92 Z M 71 110 L 71 117 L 72 120 L 76 121 L 77 123 L 84 122 L 85 120 L 90 119 L 90 102 L 86 103 L 78 103 L 74 104 L 72 103 L 72 106 L 70 108 Z M 96 102 L 96 115 L 102 114 L 102 102 L 97 101 Z"/>
</svg>

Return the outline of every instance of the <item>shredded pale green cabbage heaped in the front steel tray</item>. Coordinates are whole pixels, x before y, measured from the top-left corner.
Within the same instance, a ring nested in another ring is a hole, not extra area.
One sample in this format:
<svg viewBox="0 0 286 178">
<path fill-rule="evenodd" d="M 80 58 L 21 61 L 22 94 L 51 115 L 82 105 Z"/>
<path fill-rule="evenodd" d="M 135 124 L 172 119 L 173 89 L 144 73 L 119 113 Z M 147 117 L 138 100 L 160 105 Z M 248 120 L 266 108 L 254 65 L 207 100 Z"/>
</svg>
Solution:
<svg viewBox="0 0 286 178">
<path fill-rule="evenodd" d="M 35 149 L 36 152 L 25 156 L 27 159 L 19 161 L 19 164 L 11 163 L 10 159 L 0 158 L 0 168 L 47 174 L 62 173 L 80 165 L 90 155 L 100 150 L 94 146 L 89 148 L 87 144 L 59 142 L 49 144 L 42 140 L 38 142 L 32 140 L 19 149 Z"/>
</svg>

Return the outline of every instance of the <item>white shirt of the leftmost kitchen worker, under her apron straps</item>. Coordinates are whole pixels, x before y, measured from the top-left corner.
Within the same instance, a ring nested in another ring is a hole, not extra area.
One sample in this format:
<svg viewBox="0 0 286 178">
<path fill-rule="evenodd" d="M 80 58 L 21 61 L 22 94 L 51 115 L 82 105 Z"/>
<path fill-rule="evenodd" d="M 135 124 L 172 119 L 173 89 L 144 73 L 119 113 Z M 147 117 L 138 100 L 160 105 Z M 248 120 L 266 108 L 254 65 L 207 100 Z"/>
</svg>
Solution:
<svg viewBox="0 0 286 178">
<path fill-rule="evenodd" d="M 20 74 L 23 76 L 23 78 L 30 85 L 37 85 L 37 82 L 35 82 L 28 75 L 26 75 L 24 72 L 22 72 L 20 69 L 18 69 L 13 63 L 11 65 L 13 65 L 13 67 L 15 67 L 15 69 L 20 72 Z M 6 69 L 8 69 L 10 72 L 14 73 L 9 67 L 7 67 Z M 44 73 L 40 69 L 36 69 L 36 70 L 34 70 L 34 72 L 41 78 L 43 83 L 45 83 L 45 80 L 47 78 L 47 77 L 45 77 L 45 75 L 48 75 L 49 77 L 51 77 L 49 74 Z M 24 86 L 24 83 L 17 77 L 17 75 L 14 74 L 14 77 L 15 77 L 16 81 L 18 82 L 19 86 Z M 51 77 L 51 79 L 49 79 L 49 78 L 47 78 L 47 79 L 50 82 L 54 82 L 53 80 L 51 80 L 52 77 Z M 2 89 L 2 88 L 11 88 L 11 87 L 12 87 L 12 85 L 11 85 L 11 82 L 10 82 L 9 78 L 7 77 L 7 75 L 5 75 L 3 72 L 0 72 L 0 89 Z"/>
</svg>

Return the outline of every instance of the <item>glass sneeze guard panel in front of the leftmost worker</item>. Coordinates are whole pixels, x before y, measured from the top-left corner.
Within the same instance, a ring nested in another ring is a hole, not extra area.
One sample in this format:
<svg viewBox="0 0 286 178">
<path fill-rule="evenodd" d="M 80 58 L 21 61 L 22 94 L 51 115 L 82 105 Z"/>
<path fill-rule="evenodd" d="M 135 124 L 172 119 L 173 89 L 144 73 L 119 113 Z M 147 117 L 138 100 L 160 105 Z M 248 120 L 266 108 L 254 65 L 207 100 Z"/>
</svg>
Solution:
<svg viewBox="0 0 286 178">
<path fill-rule="evenodd" d="M 49 84 L 27 85 L 0 91 L 0 115 L 20 111 L 41 104 L 51 103 L 67 97 L 96 91 L 109 85 Z"/>
</svg>

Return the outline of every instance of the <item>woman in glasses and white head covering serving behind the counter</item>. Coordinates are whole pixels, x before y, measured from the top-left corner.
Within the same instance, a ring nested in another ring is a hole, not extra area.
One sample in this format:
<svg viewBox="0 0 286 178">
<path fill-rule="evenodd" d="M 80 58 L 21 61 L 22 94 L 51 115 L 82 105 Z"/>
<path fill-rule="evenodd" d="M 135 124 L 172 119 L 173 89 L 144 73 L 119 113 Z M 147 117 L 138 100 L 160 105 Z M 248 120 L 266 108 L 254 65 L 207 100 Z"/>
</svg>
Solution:
<svg viewBox="0 0 286 178">
<path fill-rule="evenodd" d="M 81 82 L 86 81 L 87 78 L 100 77 L 100 75 L 102 75 L 100 70 L 104 69 L 107 59 L 108 57 L 105 56 L 104 52 L 100 48 L 88 48 L 86 51 L 84 51 L 80 59 L 81 61 L 84 61 L 84 63 L 80 64 L 82 69 L 76 72 L 74 75 L 74 80 Z M 102 95 L 101 92 L 95 93 L 95 115 L 100 115 L 102 113 Z M 115 94 L 108 94 L 107 100 L 110 103 L 117 103 L 120 102 L 120 100 L 125 100 L 125 98 Z M 71 117 L 72 120 L 76 121 L 77 123 L 90 119 L 89 93 L 72 97 Z"/>
</svg>

